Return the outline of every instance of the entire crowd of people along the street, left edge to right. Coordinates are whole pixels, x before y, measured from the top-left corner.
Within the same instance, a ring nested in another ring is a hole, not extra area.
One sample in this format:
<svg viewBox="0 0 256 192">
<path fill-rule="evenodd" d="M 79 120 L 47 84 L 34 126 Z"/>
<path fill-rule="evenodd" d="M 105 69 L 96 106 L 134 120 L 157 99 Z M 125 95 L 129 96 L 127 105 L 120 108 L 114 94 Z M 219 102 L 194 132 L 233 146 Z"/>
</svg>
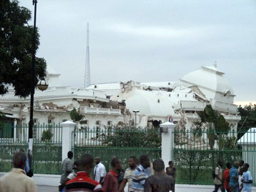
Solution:
<svg viewBox="0 0 256 192">
<path fill-rule="evenodd" d="M 113 157 L 111 169 L 106 173 L 105 166 L 100 157 L 85 154 L 72 163 L 73 153 L 68 152 L 68 157 L 61 163 L 61 178 L 59 191 L 97 191 L 97 192 L 124 192 L 128 184 L 129 192 L 175 192 L 176 169 L 174 163 L 169 161 L 169 166 L 164 167 L 161 159 L 153 163 L 147 155 L 137 159 L 131 156 L 128 160 L 129 167 L 123 170 L 118 157 Z M 36 185 L 28 173 L 28 158 L 24 150 L 14 154 L 13 168 L 0 179 L 0 191 L 36 192 Z M 93 168 L 94 167 L 94 168 Z M 234 161 L 231 165 L 223 161 L 212 172 L 215 190 L 222 192 L 251 192 L 252 177 L 248 170 L 249 164 L 243 160 Z M 27 170 L 27 173 L 26 173 Z M 93 171 L 93 178 L 90 173 Z"/>
</svg>

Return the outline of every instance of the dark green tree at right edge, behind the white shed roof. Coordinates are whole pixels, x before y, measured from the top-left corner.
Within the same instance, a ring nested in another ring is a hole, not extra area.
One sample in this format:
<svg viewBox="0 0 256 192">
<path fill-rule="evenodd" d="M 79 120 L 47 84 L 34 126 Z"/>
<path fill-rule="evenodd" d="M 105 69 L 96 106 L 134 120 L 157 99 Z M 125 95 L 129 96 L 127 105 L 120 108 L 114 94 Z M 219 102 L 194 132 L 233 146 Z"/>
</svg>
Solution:
<svg viewBox="0 0 256 192">
<path fill-rule="evenodd" d="M 245 105 L 238 108 L 241 120 L 238 122 L 238 140 L 251 128 L 256 127 L 256 104 Z"/>
</svg>

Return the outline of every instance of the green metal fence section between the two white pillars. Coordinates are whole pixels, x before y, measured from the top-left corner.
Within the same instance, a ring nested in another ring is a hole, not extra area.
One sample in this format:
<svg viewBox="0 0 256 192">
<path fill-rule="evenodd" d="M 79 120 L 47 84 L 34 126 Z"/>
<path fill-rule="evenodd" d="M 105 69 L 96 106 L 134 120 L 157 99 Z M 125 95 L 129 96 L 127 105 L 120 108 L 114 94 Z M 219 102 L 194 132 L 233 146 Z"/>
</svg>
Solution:
<svg viewBox="0 0 256 192">
<path fill-rule="evenodd" d="M 129 157 L 148 155 L 154 161 L 161 158 L 160 129 L 131 126 L 77 127 L 72 133 L 74 160 L 83 154 L 100 157 L 108 171 L 111 160 L 118 156 L 123 168 L 127 168 Z M 92 173 L 93 175 L 93 173 Z"/>
</svg>

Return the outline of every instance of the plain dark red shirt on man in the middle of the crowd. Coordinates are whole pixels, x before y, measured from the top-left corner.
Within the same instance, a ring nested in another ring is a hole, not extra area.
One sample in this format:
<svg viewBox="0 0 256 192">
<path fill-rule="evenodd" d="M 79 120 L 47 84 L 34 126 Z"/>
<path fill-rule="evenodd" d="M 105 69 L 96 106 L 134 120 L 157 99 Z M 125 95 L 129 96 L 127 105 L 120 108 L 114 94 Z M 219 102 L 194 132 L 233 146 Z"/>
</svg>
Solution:
<svg viewBox="0 0 256 192">
<path fill-rule="evenodd" d="M 118 175 L 113 171 L 110 170 L 104 179 L 103 184 L 103 191 L 104 192 L 117 192 L 118 191 Z"/>
</svg>

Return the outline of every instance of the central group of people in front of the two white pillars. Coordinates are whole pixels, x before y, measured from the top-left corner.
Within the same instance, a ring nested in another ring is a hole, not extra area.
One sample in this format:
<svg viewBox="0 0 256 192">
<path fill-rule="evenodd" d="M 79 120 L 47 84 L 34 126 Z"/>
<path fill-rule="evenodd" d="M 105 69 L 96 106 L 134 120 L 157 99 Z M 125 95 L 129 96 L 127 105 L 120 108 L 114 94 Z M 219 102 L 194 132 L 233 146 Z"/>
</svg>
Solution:
<svg viewBox="0 0 256 192">
<path fill-rule="evenodd" d="M 86 154 L 74 162 L 72 173 L 73 153 L 68 153 L 68 158 L 61 164 L 61 179 L 59 191 L 104 191 L 123 192 L 128 183 L 129 192 L 173 191 L 176 178 L 176 170 L 172 161 L 169 167 L 165 167 L 161 159 L 153 163 L 147 155 L 140 156 L 139 160 L 131 156 L 128 160 L 129 167 L 124 171 L 118 157 L 113 157 L 111 169 L 106 173 L 105 166 L 100 158 L 93 161 L 91 155 Z M 93 169 L 93 162 L 95 167 Z M 93 169 L 94 179 L 90 177 Z"/>
</svg>

